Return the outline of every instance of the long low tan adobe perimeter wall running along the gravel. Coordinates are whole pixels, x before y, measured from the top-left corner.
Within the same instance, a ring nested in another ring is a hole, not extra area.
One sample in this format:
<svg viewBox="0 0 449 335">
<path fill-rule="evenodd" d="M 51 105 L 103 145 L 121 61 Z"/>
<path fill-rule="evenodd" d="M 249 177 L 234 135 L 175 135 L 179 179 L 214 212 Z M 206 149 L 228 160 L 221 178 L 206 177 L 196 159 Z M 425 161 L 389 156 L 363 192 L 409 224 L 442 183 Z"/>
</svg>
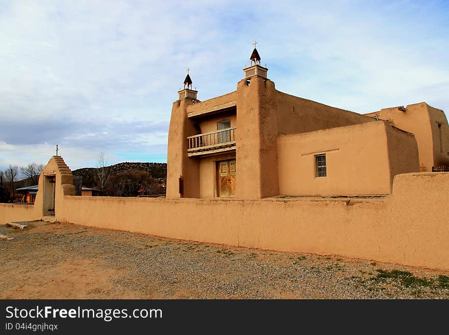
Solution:
<svg viewBox="0 0 449 335">
<path fill-rule="evenodd" d="M 53 158 L 50 163 L 64 169 Z M 67 170 L 59 171 L 57 167 L 56 176 L 68 182 Z M 74 192 L 73 185 L 56 185 L 56 219 L 62 222 L 449 270 L 449 173 L 445 172 L 396 175 L 391 196 L 349 204 L 335 199 L 82 197 L 64 195 Z M 29 210 L 0 205 L 1 224 L 11 220 L 10 211 L 15 212 L 14 221 L 30 219 Z"/>
</svg>

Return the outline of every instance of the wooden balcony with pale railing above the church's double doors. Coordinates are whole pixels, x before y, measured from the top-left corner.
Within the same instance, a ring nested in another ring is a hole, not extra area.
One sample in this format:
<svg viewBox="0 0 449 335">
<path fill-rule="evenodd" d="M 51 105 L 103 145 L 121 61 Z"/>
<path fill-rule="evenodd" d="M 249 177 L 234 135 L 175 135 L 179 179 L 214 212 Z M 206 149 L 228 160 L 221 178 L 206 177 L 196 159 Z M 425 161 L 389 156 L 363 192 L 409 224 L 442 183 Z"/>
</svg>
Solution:
<svg viewBox="0 0 449 335">
<path fill-rule="evenodd" d="M 189 136 L 188 156 L 199 156 L 223 151 L 235 150 L 235 128 Z"/>
</svg>

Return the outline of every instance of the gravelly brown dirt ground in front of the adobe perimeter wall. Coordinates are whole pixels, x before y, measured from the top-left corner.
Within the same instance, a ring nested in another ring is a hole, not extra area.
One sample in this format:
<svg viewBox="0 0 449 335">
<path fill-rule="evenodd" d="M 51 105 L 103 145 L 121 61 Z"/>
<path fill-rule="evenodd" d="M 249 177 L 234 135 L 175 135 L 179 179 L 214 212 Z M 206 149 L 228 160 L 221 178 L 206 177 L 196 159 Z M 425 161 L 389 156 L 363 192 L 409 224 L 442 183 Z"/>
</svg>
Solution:
<svg viewBox="0 0 449 335">
<path fill-rule="evenodd" d="M 34 221 L 0 226 L 2 299 L 449 298 L 449 272 Z"/>
</svg>

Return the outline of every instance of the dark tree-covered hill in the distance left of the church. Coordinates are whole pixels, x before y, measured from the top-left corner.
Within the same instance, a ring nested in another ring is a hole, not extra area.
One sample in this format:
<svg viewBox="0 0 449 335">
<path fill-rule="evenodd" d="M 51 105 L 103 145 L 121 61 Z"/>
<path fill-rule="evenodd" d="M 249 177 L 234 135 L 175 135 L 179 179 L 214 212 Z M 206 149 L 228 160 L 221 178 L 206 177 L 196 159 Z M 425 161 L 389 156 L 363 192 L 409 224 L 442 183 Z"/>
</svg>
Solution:
<svg viewBox="0 0 449 335">
<path fill-rule="evenodd" d="M 125 162 L 108 166 L 107 169 L 111 169 L 111 177 L 127 170 L 146 171 L 153 178 L 165 179 L 167 177 L 167 163 Z M 97 175 L 96 170 L 97 168 L 82 168 L 73 170 L 72 174 L 83 177 L 83 186 L 95 187 L 95 177 Z"/>
</svg>

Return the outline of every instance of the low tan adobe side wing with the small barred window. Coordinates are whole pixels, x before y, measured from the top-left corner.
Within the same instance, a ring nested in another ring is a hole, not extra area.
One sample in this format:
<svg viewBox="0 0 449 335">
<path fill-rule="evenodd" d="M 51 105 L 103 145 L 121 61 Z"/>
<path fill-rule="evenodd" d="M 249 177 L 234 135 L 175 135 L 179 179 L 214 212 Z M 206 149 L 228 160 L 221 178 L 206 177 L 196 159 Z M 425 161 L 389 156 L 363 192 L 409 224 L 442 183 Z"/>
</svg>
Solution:
<svg viewBox="0 0 449 335">
<path fill-rule="evenodd" d="M 321 153 L 326 177 L 316 177 Z M 413 135 L 382 121 L 281 135 L 278 158 L 283 195 L 389 194 L 394 174 L 419 171 Z"/>
</svg>

